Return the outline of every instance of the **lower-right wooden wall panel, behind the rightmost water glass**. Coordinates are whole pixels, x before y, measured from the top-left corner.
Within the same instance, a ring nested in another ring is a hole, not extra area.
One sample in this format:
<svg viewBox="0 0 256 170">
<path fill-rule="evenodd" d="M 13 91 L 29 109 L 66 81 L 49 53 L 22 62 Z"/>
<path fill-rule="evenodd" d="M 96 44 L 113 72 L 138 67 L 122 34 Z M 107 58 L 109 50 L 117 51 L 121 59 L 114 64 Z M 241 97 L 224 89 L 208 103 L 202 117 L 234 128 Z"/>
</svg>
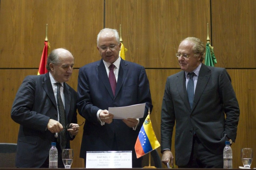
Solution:
<svg viewBox="0 0 256 170">
<path fill-rule="evenodd" d="M 253 76 L 256 74 L 256 69 L 227 70 L 232 79 L 232 85 L 237 95 L 240 117 L 237 131 L 237 139 L 232 145 L 233 151 L 233 168 L 242 166 L 240 152 L 243 147 L 251 147 L 256 151 L 256 87 Z M 251 168 L 256 168 L 256 161 L 253 161 Z"/>
</svg>

